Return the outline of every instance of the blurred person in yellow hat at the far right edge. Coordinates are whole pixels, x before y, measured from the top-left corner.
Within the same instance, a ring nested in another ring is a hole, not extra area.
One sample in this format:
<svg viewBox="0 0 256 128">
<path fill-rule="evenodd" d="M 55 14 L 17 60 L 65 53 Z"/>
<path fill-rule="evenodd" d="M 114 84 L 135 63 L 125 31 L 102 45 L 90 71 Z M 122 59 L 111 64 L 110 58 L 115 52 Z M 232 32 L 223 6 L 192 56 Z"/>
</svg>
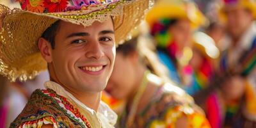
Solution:
<svg viewBox="0 0 256 128">
<path fill-rule="evenodd" d="M 206 113 L 212 127 L 256 127 L 256 1 L 222 2 L 228 47 L 215 77 L 220 88 L 207 97 Z"/>
</svg>

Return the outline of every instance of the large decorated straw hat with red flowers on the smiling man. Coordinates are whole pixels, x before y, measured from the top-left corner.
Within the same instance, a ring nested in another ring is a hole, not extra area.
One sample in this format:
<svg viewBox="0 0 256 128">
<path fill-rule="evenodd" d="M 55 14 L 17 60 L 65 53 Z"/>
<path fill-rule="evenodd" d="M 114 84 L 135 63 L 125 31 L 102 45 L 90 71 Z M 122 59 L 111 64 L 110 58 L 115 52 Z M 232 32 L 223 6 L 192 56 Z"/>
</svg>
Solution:
<svg viewBox="0 0 256 128">
<path fill-rule="evenodd" d="M 64 20 L 90 26 L 112 16 L 116 42 L 122 42 L 152 6 L 150 0 L 17 0 L 22 10 L 0 4 L 0 74 L 11 81 L 32 79 L 47 69 L 37 47 L 51 24 Z"/>
</svg>

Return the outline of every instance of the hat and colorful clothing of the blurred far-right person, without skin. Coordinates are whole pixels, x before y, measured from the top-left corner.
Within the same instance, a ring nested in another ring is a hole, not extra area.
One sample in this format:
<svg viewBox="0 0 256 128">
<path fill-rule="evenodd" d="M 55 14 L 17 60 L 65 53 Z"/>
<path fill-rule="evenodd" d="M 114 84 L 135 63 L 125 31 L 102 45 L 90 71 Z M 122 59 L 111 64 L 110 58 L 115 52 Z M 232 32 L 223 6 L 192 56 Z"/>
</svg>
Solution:
<svg viewBox="0 0 256 128">
<path fill-rule="evenodd" d="M 223 1 L 225 6 L 239 6 L 250 10 L 253 18 L 256 18 L 255 1 Z M 225 6 L 220 14 L 223 21 L 227 20 Z M 244 93 L 241 99 L 235 102 L 225 103 L 225 95 L 217 91 L 212 93 L 206 102 L 207 116 L 212 127 L 256 127 L 256 25 L 254 22 L 239 38 L 235 47 L 232 47 L 232 39 L 226 36 L 230 42 L 229 47 L 223 51 L 220 58 L 221 74 L 230 73 L 244 79 Z"/>
</svg>

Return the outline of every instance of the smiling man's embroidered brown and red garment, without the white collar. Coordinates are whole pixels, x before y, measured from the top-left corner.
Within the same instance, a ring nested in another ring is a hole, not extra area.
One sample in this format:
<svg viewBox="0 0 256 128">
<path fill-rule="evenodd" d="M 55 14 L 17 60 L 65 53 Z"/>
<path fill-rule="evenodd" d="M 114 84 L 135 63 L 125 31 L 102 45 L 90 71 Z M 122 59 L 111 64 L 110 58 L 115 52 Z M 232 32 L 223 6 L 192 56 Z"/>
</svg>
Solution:
<svg viewBox="0 0 256 128">
<path fill-rule="evenodd" d="M 56 127 L 91 127 L 85 122 L 86 118 L 79 114 L 78 109 L 70 105 L 67 100 L 61 99 L 53 90 L 36 90 L 10 127 L 16 128 L 20 125 L 40 127 L 43 122 L 52 122 Z"/>
</svg>

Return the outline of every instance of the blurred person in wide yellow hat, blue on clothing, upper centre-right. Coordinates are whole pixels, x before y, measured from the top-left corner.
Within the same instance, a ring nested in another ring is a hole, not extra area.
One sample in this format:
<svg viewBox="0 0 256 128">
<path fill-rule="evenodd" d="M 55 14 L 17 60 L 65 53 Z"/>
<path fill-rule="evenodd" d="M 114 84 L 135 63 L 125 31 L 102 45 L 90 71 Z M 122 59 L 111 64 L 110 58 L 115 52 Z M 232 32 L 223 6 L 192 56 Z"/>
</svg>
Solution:
<svg viewBox="0 0 256 128">
<path fill-rule="evenodd" d="M 186 66 L 192 58 L 193 31 L 205 24 L 204 15 L 192 1 L 159 0 L 146 16 L 157 45 L 157 56 L 175 83 L 188 84 Z M 183 77 L 183 78 L 182 78 Z"/>
</svg>

